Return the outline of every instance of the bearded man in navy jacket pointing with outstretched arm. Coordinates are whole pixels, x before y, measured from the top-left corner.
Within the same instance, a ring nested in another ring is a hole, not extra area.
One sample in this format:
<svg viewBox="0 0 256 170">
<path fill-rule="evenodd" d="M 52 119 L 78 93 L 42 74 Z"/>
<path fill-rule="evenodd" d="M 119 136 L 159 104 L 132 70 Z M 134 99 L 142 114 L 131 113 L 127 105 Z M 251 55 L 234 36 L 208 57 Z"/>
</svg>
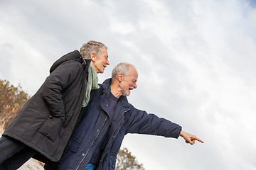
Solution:
<svg viewBox="0 0 256 170">
<path fill-rule="evenodd" d="M 91 92 L 89 105 L 84 109 L 80 125 L 74 131 L 58 169 L 114 169 L 117 153 L 127 133 L 182 136 L 193 145 L 195 135 L 181 130 L 181 126 L 154 114 L 134 108 L 127 97 L 137 88 L 138 73 L 132 64 L 120 63 L 100 89 Z M 45 169 L 53 169 L 46 164 Z"/>
</svg>

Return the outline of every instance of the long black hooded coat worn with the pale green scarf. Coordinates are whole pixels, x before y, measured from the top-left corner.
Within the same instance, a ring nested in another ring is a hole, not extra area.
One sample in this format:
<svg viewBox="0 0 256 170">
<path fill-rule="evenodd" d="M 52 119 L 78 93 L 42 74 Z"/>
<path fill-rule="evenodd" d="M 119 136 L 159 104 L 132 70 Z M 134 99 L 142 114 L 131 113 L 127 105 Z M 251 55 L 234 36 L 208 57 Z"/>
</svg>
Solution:
<svg viewBox="0 0 256 170">
<path fill-rule="evenodd" d="M 83 60 L 77 50 L 60 57 L 3 135 L 58 161 L 82 108 L 89 64 L 90 60 Z"/>
</svg>

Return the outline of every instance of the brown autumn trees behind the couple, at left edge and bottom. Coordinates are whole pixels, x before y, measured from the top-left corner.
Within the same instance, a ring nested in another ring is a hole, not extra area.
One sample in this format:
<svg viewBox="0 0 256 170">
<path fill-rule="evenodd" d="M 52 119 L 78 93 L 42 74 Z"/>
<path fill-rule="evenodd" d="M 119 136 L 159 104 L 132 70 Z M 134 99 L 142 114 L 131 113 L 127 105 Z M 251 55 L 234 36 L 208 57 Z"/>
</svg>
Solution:
<svg viewBox="0 0 256 170">
<path fill-rule="evenodd" d="M 30 96 L 22 90 L 20 84 L 15 87 L 9 81 L 0 79 L 0 126 L 4 130 L 29 98 Z M 127 148 L 119 150 L 116 169 L 145 170 Z"/>
</svg>

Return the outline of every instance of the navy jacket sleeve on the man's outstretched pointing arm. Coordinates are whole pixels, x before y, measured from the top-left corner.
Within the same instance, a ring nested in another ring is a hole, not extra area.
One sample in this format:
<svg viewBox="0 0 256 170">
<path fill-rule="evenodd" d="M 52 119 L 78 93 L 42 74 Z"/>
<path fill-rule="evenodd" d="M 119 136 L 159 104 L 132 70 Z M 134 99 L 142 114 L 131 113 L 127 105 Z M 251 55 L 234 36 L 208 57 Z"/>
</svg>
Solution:
<svg viewBox="0 0 256 170">
<path fill-rule="evenodd" d="M 132 108 L 131 114 L 128 117 L 126 121 L 127 133 L 178 138 L 181 132 L 180 125 L 164 118 L 159 118 L 154 114 L 148 114 L 146 111 L 140 111 L 137 108 Z"/>
</svg>

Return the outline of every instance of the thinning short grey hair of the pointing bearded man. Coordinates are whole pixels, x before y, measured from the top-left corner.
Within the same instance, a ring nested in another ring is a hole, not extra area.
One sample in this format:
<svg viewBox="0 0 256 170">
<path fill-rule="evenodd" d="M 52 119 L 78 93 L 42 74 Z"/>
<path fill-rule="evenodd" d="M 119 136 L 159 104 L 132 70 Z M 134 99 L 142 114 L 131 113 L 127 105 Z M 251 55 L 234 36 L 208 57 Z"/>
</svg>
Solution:
<svg viewBox="0 0 256 170">
<path fill-rule="evenodd" d="M 117 75 L 119 73 L 124 74 L 124 77 L 127 76 L 129 73 L 129 67 L 133 67 L 136 69 L 136 67 L 133 64 L 129 64 L 128 62 L 121 62 L 117 64 L 116 67 L 112 70 L 112 81 L 117 78 Z"/>
</svg>

